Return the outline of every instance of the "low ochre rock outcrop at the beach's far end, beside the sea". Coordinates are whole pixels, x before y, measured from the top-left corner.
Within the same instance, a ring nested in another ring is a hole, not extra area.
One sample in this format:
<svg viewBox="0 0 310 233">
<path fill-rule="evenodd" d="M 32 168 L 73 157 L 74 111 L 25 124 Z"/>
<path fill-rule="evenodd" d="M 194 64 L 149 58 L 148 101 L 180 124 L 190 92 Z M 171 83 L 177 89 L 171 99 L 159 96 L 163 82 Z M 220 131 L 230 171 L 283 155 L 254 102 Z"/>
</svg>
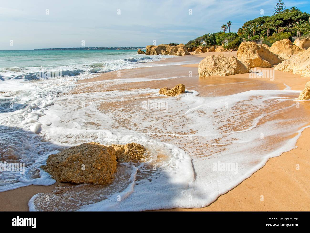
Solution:
<svg viewBox="0 0 310 233">
<path fill-rule="evenodd" d="M 170 46 L 169 44 L 160 44 L 158 46 L 148 45 L 146 47 L 146 55 L 175 55 L 185 56 L 189 52 L 184 44 Z"/>
</svg>

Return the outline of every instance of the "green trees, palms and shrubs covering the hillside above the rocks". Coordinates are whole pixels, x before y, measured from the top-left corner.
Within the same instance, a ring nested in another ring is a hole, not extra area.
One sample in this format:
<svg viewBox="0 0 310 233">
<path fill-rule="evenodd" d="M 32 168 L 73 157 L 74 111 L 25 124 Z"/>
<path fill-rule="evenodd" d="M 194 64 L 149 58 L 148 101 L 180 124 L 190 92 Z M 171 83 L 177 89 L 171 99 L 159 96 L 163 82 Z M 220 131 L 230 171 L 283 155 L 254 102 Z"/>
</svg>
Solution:
<svg viewBox="0 0 310 233">
<path fill-rule="evenodd" d="M 231 21 L 221 26 L 221 32 L 208 33 L 188 41 L 188 48 L 198 46 L 223 45 L 226 49 L 239 46 L 244 38 L 246 41 L 263 39 L 263 43 L 271 46 L 282 39 L 292 39 L 292 36 L 307 36 L 310 34 L 309 13 L 302 12 L 297 7 L 286 8 L 283 0 L 274 7 L 272 16 L 261 16 L 246 21 L 237 33 L 230 32 Z M 229 32 L 226 31 L 229 28 Z"/>
</svg>

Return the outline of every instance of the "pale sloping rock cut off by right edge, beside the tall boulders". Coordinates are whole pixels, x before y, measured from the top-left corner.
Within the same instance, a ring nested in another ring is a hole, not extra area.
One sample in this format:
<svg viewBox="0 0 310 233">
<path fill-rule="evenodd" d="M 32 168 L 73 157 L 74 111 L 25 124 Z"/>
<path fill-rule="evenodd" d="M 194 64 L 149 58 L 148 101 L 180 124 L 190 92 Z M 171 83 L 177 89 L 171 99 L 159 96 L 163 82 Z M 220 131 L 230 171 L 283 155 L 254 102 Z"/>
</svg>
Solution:
<svg viewBox="0 0 310 233">
<path fill-rule="evenodd" d="M 274 69 L 291 71 L 293 74 L 301 74 L 301 77 L 310 77 L 310 48 L 278 64 Z"/>
</svg>

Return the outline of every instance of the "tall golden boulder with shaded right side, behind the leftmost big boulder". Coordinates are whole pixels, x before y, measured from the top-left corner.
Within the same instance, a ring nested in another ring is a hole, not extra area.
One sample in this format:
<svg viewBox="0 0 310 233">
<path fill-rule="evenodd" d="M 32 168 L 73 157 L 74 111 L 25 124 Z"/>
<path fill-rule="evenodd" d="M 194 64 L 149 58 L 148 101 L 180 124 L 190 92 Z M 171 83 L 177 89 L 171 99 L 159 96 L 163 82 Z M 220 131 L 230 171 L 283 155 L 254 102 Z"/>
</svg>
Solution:
<svg viewBox="0 0 310 233">
<path fill-rule="evenodd" d="M 237 51 L 237 58 L 250 68 L 272 67 L 284 60 L 255 42 L 242 42 Z"/>
</svg>

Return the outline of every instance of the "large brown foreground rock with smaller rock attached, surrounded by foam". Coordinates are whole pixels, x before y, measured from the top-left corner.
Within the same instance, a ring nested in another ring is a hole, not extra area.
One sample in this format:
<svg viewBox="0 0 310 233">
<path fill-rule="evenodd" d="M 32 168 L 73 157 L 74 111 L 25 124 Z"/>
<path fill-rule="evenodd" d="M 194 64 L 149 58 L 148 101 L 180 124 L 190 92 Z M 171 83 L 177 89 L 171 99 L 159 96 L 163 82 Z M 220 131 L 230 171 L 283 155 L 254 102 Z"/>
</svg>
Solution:
<svg viewBox="0 0 310 233">
<path fill-rule="evenodd" d="M 59 182 L 107 185 L 113 181 L 117 163 L 137 162 L 145 158 L 145 153 L 145 148 L 137 143 L 83 143 L 50 155 L 47 165 L 41 168 Z"/>
</svg>

